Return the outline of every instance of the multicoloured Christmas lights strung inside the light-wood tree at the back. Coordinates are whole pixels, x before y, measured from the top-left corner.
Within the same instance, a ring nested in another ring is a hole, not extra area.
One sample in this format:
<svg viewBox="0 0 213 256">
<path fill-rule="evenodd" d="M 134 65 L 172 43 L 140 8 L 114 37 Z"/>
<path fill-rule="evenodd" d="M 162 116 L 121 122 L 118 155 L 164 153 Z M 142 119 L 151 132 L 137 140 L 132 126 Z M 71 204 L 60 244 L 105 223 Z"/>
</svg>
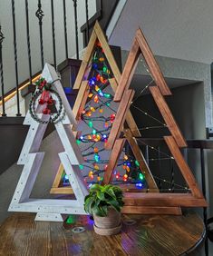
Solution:
<svg viewBox="0 0 213 256">
<path fill-rule="evenodd" d="M 109 158 L 104 156 L 101 158 L 101 153 L 105 151 L 104 143 L 107 142 L 111 131 L 111 124 L 116 114 L 116 109 L 111 106 L 111 103 L 113 103 L 113 93 L 112 89 L 109 92 L 109 87 L 111 87 L 109 79 L 112 78 L 112 74 L 108 66 L 105 61 L 102 45 L 97 43 L 92 56 L 91 71 L 88 79 L 90 92 L 87 103 L 81 113 L 82 123 L 89 130 L 91 129 L 92 132 L 82 133 L 76 141 L 80 146 L 81 144 L 89 143 L 89 146 L 82 148 L 82 155 L 85 161 L 83 168 L 89 169 L 89 172 L 84 175 L 84 178 L 87 180 L 89 177 L 89 182 L 95 182 L 95 177 L 97 177 L 97 182 L 101 182 L 102 177 L 100 175 L 102 172 L 105 172 L 107 163 L 109 162 Z M 106 116 L 109 112 L 111 113 Z M 101 123 L 103 123 L 103 129 L 100 129 Z M 131 155 L 127 155 L 125 151 L 123 154 L 123 159 L 119 160 L 117 168 L 114 171 L 115 180 L 127 182 L 129 178 L 132 180 L 131 176 L 140 181 L 144 180 L 144 176 L 140 171 L 139 162 L 133 159 Z M 91 157 L 93 158 L 91 159 Z M 121 171 L 117 170 L 120 167 Z"/>
</svg>

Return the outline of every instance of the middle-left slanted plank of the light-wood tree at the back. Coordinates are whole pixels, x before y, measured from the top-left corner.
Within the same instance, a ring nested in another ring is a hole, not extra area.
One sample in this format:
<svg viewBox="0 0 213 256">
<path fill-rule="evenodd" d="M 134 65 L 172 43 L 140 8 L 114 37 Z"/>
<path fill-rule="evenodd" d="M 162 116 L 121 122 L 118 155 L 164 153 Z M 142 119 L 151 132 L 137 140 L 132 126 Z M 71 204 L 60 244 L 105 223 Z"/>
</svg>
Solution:
<svg viewBox="0 0 213 256">
<path fill-rule="evenodd" d="M 80 114 L 82 113 L 82 110 L 85 106 L 89 93 L 90 93 L 90 88 L 88 85 L 88 81 L 87 80 L 82 81 L 77 98 L 73 105 L 73 114 L 76 120 L 79 120 L 80 118 Z"/>
</svg>

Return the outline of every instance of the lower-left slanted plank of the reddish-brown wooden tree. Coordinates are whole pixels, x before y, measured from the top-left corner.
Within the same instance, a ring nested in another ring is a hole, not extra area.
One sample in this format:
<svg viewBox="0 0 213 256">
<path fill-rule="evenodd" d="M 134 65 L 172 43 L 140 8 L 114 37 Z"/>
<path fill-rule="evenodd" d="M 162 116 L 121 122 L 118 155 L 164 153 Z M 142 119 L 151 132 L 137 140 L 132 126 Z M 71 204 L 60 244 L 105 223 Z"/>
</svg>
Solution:
<svg viewBox="0 0 213 256">
<path fill-rule="evenodd" d="M 125 139 L 118 139 L 114 143 L 114 146 L 111 150 L 111 156 L 107 164 L 107 169 L 103 175 L 102 184 L 109 184 L 112 181 L 113 171 L 117 166 L 125 141 L 126 141 Z"/>
</svg>

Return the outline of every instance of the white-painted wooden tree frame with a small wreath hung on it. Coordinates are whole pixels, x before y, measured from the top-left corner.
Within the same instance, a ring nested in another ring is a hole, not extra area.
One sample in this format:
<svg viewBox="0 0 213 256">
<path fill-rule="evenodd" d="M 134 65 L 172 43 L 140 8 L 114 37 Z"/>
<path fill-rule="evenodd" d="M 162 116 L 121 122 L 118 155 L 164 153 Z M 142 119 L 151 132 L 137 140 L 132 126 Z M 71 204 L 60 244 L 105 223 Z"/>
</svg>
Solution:
<svg viewBox="0 0 213 256">
<path fill-rule="evenodd" d="M 62 120 L 54 123 L 55 129 L 63 144 L 64 152 L 59 153 L 59 158 L 63 163 L 64 172 L 67 174 L 75 195 L 74 200 L 62 199 L 34 199 L 30 194 L 34 187 L 37 174 L 40 171 L 44 160 L 44 153 L 39 152 L 47 123 L 38 123 L 31 114 L 25 116 L 24 124 L 30 125 L 27 133 L 18 164 L 24 164 L 24 169 L 15 189 L 12 202 L 9 206 L 10 212 L 35 212 L 35 221 L 63 222 L 61 214 L 86 214 L 83 209 L 84 197 L 88 193 L 83 182 L 79 164 L 83 162 L 80 148 L 75 142 L 71 124 L 75 124 L 75 118 L 63 92 L 63 86 L 58 76 L 50 64 L 45 64 L 42 77 L 47 83 L 53 83 L 53 89 L 60 95 L 63 103 L 64 116 Z M 59 110 L 59 101 L 55 94 L 50 93 L 55 100 L 55 108 Z M 39 104 L 36 101 L 34 109 L 41 121 L 48 121 L 49 114 L 44 114 L 46 104 Z"/>
</svg>

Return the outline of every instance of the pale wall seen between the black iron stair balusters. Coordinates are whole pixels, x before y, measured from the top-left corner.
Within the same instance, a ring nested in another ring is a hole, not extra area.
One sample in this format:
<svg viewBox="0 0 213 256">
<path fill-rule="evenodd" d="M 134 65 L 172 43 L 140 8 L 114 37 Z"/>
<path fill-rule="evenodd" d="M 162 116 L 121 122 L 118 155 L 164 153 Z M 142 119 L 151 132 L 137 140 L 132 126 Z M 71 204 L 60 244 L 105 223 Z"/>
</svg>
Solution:
<svg viewBox="0 0 213 256">
<path fill-rule="evenodd" d="M 32 53 L 33 74 L 41 70 L 40 58 L 40 39 L 38 19 L 35 16 L 37 10 L 37 0 L 29 0 L 30 16 L 30 39 Z M 18 73 L 19 84 L 29 77 L 28 55 L 26 44 L 26 25 L 25 25 L 25 1 L 15 0 L 15 21 L 17 36 L 17 54 L 18 54 Z M 64 34 L 63 34 L 63 1 L 54 0 L 54 18 L 56 34 L 56 58 L 57 64 L 65 59 Z M 44 11 L 44 61 L 53 64 L 53 44 L 52 44 L 52 20 L 51 20 L 51 1 L 42 0 L 42 9 Z M 5 93 L 15 87 L 15 62 L 14 62 L 14 39 L 11 1 L 0 1 L 0 24 L 5 35 L 3 42 L 3 61 L 5 75 Z M 89 17 L 96 12 L 96 1 L 89 1 Z M 66 1 L 67 15 L 67 34 L 69 57 L 75 54 L 75 36 L 74 36 L 74 14 L 73 1 Z M 82 33 L 80 27 L 86 22 L 85 1 L 78 1 L 78 25 L 79 25 L 79 44 L 82 49 Z"/>
</svg>

